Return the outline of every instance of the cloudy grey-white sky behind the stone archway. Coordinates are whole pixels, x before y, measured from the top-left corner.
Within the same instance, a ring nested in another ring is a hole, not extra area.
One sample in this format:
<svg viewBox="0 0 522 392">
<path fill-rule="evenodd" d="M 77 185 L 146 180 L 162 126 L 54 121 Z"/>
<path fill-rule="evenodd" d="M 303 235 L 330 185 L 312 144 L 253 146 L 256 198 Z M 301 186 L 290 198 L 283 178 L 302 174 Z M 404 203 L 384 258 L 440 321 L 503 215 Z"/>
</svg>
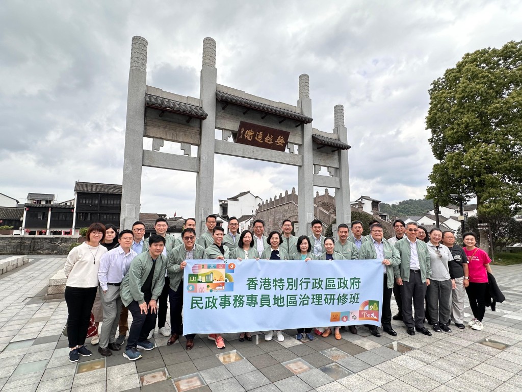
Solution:
<svg viewBox="0 0 522 392">
<path fill-rule="evenodd" d="M 435 160 L 431 82 L 462 55 L 520 40 L 520 1 L 0 2 L 0 193 L 74 197 L 76 180 L 121 183 L 131 40 L 147 84 L 199 96 L 203 39 L 218 83 L 296 104 L 310 75 L 313 126 L 345 107 L 351 199 L 423 198 Z M 150 148 L 151 142 L 144 146 Z M 162 151 L 179 152 L 177 146 Z M 217 200 L 297 187 L 297 169 L 216 156 Z M 194 215 L 196 175 L 144 168 L 141 212 Z M 203 190 L 204 191 L 204 190 Z"/>
</svg>

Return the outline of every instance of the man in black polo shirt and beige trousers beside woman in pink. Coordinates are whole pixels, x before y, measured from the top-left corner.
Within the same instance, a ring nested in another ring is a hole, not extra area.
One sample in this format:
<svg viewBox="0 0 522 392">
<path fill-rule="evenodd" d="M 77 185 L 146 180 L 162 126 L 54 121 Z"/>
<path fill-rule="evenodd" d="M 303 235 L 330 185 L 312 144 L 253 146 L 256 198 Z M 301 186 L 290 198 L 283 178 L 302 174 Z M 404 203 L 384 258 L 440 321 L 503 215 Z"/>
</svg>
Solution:
<svg viewBox="0 0 522 392">
<path fill-rule="evenodd" d="M 451 316 L 457 328 L 466 329 L 464 325 L 464 298 L 466 287 L 469 285 L 468 258 L 464 249 L 455 244 L 455 236 L 452 232 L 446 230 L 442 233 L 442 243 L 448 247 L 453 256 L 453 260 L 448 262 L 449 276 L 451 279 L 455 279 L 456 285 L 450 298 Z"/>
</svg>

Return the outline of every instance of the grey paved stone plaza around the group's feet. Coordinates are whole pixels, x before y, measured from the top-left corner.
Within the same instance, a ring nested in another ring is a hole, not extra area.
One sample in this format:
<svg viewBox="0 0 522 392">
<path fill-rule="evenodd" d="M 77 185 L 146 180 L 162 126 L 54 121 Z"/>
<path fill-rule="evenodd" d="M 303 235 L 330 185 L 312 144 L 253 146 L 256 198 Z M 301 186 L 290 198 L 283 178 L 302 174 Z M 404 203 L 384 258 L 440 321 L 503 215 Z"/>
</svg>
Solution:
<svg viewBox="0 0 522 392">
<path fill-rule="evenodd" d="M 386 333 L 375 338 L 366 328 L 360 328 L 359 335 L 345 331 L 339 341 L 329 336 L 299 342 L 295 330 L 288 330 L 284 332 L 290 336 L 280 343 L 265 342 L 262 334 L 252 342 L 239 342 L 235 333 L 224 336 L 224 350 L 205 336 L 196 339 L 188 352 L 184 342 L 167 347 L 168 338 L 156 333 L 158 348 L 142 351 L 144 358 L 136 362 L 119 353 L 105 359 L 96 346 L 87 344 L 93 355 L 72 364 L 67 338 L 61 335 L 67 319 L 65 301 L 43 297 L 49 278 L 63 266 L 65 257 L 29 259 L 26 266 L 0 276 L 2 391 L 174 391 L 174 385 L 179 392 L 198 385 L 202 386 L 191 390 L 522 390 L 522 287 L 517 284 L 522 266 L 492 267 L 507 299 L 497 312 L 486 311 L 482 331 L 452 326 L 449 334 L 410 337 L 394 321 L 395 338 Z M 216 354 L 224 355 L 220 360 Z"/>
</svg>

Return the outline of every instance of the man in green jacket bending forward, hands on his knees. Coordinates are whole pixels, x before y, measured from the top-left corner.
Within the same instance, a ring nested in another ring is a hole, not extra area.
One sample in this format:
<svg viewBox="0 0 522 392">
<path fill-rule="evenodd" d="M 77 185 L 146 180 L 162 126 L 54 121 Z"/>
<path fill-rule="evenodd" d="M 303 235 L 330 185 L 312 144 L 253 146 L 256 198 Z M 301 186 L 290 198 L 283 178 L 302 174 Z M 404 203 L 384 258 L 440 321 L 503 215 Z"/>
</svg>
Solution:
<svg viewBox="0 0 522 392">
<path fill-rule="evenodd" d="M 156 325 L 158 297 L 165 283 L 167 258 L 161 252 L 165 247 L 165 238 L 152 234 L 149 238 L 149 250 L 136 256 L 120 286 L 123 305 L 131 312 L 133 321 L 123 356 L 131 361 L 141 358 L 139 349 L 152 350 L 149 331 Z"/>
</svg>

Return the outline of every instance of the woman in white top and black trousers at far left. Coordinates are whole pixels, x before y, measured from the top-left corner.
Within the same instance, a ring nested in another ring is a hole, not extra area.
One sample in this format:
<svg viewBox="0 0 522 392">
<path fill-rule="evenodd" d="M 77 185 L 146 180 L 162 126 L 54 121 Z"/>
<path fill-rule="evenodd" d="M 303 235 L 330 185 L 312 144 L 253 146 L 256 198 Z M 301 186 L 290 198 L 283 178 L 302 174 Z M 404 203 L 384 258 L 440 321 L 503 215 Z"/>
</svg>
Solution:
<svg viewBox="0 0 522 392">
<path fill-rule="evenodd" d="M 105 226 L 93 223 L 87 230 L 87 241 L 73 248 L 65 261 L 65 302 L 69 317 L 67 337 L 69 339 L 69 361 L 78 362 L 79 355 L 90 356 L 85 347 L 92 304 L 98 290 L 100 258 L 107 248 L 100 245 L 105 236 Z"/>
</svg>

